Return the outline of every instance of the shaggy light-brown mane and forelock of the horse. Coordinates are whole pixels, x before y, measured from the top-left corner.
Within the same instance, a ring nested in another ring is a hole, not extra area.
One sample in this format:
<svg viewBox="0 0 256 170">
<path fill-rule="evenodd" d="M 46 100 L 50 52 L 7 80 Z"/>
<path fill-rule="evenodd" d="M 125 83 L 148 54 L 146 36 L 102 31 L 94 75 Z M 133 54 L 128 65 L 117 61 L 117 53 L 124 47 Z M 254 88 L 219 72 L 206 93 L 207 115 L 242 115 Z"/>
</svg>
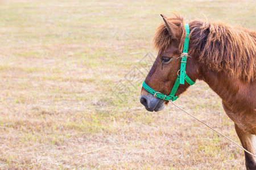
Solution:
<svg viewBox="0 0 256 170">
<path fill-rule="evenodd" d="M 184 19 L 179 15 L 168 18 L 181 28 L 180 53 L 183 49 Z M 208 69 L 229 74 L 246 82 L 256 78 L 256 32 L 225 23 L 193 21 L 189 23 L 189 56 L 198 56 L 199 62 Z M 154 45 L 157 50 L 167 48 L 173 41 L 162 23 L 156 30 Z"/>
</svg>

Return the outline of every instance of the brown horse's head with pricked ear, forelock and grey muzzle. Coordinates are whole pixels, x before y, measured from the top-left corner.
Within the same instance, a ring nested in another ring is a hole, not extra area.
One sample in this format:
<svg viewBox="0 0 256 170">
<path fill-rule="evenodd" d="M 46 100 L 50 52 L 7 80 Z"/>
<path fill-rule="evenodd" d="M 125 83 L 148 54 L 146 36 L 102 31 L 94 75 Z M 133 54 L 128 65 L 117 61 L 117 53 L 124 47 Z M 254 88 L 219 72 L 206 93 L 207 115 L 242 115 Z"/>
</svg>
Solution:
<svg viewBox="0 0 256 170">
<path fill-rule="evenodd" d="M 183 18 L 176 15 L 176 18 L 166 18 L 161 15 L 163 23 L 159 25 L 154 38 L 154 44 L 158 49 L 158 56 L 155 59 L 154 64 L 148 73 L 145 83 L 153 90 L 157 91 L 155 95 L 145 90 L 142 87 L 141 90 L 141 103 L 150 112 L 158 112 L 164 108 L 164 104 L 168 103 L 168 100 L 163 100 L 166 96 L 169 96 L 171 90 L 174 88 L 174 84 L 177 80 L 177 76 L 180 74 L 180 65 L 183 44 L 186 36 L 184 29 Z M 186 75 L 192 76 L 195 81 L 195 73 L 198 68 L 193 59 L 187 58 Z M 189 84 L 185 82 L 180 84 L 177 88 L 174 96 L 179 96 L 183 93 Z M 162 99 L 156 97 L 157 93 L 162 93 L 164 97 Z"/>
</svg>

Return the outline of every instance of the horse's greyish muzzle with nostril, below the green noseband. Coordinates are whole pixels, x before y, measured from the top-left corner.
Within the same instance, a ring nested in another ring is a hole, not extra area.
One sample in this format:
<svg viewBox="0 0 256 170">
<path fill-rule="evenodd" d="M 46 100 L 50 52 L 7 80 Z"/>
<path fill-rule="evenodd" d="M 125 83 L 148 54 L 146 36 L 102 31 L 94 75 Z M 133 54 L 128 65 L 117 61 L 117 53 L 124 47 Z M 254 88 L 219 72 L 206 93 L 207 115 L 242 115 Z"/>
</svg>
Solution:
<svg viewBox="0 0 256 170">
<path fill-rule="evenodd" d="M 141 104 L 144 105 L 147 111 L 150 112 L 158 112 L 161 111 L 164 108 L 164 100 L 158 99 L 148 93 L 147 95 L 141 94 Z"/>
</svg>

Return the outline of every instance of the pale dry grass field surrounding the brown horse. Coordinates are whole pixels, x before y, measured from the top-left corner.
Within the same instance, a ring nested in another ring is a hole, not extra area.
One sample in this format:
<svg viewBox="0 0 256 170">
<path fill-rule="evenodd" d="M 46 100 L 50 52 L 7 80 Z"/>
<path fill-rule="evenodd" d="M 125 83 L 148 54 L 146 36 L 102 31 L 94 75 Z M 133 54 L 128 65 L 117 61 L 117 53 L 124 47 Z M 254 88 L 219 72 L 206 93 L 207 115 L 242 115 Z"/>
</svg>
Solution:
<svg viewBox="0 0 256 170">
<path fill-rule="evenodd" d="M 255 29 L 255 10 L 254 0 L 0 0 L 0 169 L 245 169 L 242 150 L 179 109 L 147 112 L 129 78 L 146 76 L 159 14 Z M 204 82 L 175 103 L 239 142 Z"/>
</svg>

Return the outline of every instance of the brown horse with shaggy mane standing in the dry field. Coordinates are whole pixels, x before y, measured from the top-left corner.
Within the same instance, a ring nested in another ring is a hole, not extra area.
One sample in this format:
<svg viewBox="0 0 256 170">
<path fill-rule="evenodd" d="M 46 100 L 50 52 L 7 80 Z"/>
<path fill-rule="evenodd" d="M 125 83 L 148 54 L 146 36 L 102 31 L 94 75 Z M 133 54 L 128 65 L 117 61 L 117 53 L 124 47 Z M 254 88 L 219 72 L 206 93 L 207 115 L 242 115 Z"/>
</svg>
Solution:
<svg viewBox="0 0 256 170">
<path fill-rule="evenodd" d="M 168 95 L 180 69 L 180 54 L 186 36 L 184 19 L 179 15 L 166 18 L 154 37 L 158 56 L 145 83 L 155 91 Z M 204 80 L 222 99 L 226 114 L 234 126 L 242 146 L 256 154 L 256 32 L 224 23 L 193 21 L 189 23 L 189 46 L 186 72 L 195 82 Z M 189 84 L 180 84 L 175 95 Z M 150 112 L 164 108 L 167 100 L 141 91 L 141 103 Z M 256 169 L 256 158 L 245 152 L 247 169 Z"/>
</svg>

